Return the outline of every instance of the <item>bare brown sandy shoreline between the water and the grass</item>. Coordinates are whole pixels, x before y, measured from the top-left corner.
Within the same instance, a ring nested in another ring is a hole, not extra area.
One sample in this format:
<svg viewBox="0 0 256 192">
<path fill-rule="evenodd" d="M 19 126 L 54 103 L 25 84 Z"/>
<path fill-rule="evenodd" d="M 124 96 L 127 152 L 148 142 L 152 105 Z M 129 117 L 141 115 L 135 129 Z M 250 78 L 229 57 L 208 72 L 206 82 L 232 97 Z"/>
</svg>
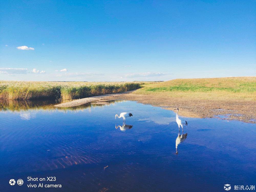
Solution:
<svg viewBox="0 0 256 192">
<path fill-rule="evenodd" d="M 256 123 L 256 101 L 243 100 L 200 100 L 134 94 L 133 91 L 99 95 L 55 105 L 57 107 L 78 106 L 97 100 L 130 100 L 150 104 L 164 109 L 179 108 L 179 115 L 193 118 L 218 118 Z M 225 115 L 225 116 L 222 116 Z"/>
</svg>

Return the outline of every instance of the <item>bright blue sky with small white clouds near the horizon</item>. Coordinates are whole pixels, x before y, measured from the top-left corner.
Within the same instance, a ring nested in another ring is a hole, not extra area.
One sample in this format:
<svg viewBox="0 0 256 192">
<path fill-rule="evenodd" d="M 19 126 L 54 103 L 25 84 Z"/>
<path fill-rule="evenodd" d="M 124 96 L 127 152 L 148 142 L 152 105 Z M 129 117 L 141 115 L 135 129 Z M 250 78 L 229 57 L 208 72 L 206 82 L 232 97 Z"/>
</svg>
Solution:
<svg viewBox="0 0 256 192">
<path fill-rule="evenodd" d="M 0 4 L 1 80 L 256 76 L 256 1 Z"/>
</svg>

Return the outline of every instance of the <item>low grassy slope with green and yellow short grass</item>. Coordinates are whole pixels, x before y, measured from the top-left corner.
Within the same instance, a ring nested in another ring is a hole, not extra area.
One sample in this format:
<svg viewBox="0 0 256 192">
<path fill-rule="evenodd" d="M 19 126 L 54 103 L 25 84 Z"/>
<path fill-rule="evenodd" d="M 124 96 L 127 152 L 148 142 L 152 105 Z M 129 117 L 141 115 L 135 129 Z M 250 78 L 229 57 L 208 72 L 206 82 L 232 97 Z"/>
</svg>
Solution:
<svg viewBox="0 0 256 192">
<path fill-rule="evenodd" d="M 157 94 L 164 97 L 197 99 L 256 100 L 256 77 L 174 79 L 145 83 L 135 94 Z"/>
</svg>

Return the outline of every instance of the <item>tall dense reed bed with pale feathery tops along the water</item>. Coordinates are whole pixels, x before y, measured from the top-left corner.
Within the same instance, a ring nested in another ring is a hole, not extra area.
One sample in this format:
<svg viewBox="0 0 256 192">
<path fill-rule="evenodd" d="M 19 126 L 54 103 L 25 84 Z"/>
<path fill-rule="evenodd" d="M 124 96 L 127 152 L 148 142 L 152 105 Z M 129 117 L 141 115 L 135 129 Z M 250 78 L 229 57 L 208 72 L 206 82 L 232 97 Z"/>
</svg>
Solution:
<svg viewBox="0 0 256 192">
<path fill-rule="evenodd" d="M 0 81 L 0 99 L 70 100 L 96 95 L 119 93 L 141 87 L 140 82 L 38 82 Z"/>
</svg>

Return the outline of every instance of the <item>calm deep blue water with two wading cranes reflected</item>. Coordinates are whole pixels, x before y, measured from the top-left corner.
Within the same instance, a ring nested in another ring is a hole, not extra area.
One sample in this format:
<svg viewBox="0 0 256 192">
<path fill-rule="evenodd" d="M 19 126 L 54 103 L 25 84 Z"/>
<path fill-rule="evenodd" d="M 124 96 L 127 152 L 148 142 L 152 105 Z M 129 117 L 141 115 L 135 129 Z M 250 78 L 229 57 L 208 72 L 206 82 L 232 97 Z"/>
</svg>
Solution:
<svg viewBox="0 0 256 192">
<path fill-rule="evenodd" d="M 132 101 L 64 110 L 47 102 L 31 109 L 15 105 L 0 112 L 0 191 L 223 191 L 225 184 L 233 191 L 234 185 L 256 185 L 255 124 L 185 118 L 187 136 L 180 137 L 173 111 Z M 121 112 L 133 114 L 126 126 L 115 120 Z M 24 184 L 11 186 L 10 179 Z"/>
</svg>

